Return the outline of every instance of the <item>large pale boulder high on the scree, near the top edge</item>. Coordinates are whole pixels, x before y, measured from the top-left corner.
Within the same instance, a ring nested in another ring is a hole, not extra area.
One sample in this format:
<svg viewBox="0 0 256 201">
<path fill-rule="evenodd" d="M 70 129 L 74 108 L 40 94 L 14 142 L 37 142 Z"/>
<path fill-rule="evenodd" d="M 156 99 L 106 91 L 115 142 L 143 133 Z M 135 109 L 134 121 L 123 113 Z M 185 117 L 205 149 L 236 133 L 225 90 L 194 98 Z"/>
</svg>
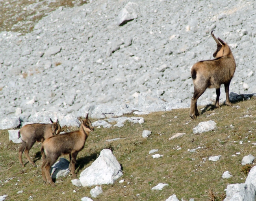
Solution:
<svg viewBox="0 0 256 201">
<path fill-rule="evenodd" d="M 120 11 L 117 22 L 119 25 L 138 18 L 139 6 L 134 2 L 128 2 L 125 7 Z"/>
</svg>

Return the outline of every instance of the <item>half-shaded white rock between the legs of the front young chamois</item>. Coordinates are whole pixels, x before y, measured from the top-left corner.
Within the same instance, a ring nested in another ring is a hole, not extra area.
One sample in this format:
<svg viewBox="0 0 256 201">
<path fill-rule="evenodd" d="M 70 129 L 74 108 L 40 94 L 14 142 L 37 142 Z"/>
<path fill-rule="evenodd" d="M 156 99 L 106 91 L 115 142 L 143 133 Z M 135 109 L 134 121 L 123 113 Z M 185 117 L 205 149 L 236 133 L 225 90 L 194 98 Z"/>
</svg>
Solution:
<svg viewBox="0 0 256 201">
<path fill-rule="evenodd" d="M 69 172 L 69 161 L 65 158 L 60 158 L 59 161 L 54 163 L 50 168 L 50 174 L 52 175 L 52 179 L 66 177 Z"/>
</svg>

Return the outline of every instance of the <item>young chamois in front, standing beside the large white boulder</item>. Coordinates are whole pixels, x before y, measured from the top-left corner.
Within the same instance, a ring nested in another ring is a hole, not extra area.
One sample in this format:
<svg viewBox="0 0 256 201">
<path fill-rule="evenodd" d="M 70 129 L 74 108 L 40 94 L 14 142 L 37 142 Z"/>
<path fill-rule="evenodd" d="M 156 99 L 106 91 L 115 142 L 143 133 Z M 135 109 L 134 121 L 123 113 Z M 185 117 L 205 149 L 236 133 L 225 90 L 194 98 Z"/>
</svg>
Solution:
<svg viewBox="0 0 256 201">
<path fill-rule="evenodd" d="M 52 186 L 55 186 L 55 184 L 50 176 L 50 168 L 61 155 L 69 154 L 69 170 L 72 176 L 76 177 L 76 156 L 83 149 L 89 133 L 94 130 L 91 121 L 88 119 L 88 114 L 84 120 L 80 117 L 80 122 L 79 130 L 50 137 L 42 144 L 41 154 L 45 154 L 45 160 L 41 168 L 42 177 L 43 181 Z"/>
</svg>

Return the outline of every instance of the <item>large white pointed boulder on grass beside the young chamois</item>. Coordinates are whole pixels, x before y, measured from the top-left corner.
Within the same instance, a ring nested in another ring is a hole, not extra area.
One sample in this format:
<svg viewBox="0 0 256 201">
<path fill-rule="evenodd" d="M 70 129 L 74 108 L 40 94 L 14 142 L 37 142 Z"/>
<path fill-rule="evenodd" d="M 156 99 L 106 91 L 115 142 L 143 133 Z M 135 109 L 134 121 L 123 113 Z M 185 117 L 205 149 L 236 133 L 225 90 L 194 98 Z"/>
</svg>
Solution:
<svg viewBox="0 0 256 201">
<path fill-rule="evenodd" d="M 113 184 L 122 176 L 121 166 L 109 149 L 100 152 L 99 157 L 80 174 L 83 186 Z"/>
</svg>

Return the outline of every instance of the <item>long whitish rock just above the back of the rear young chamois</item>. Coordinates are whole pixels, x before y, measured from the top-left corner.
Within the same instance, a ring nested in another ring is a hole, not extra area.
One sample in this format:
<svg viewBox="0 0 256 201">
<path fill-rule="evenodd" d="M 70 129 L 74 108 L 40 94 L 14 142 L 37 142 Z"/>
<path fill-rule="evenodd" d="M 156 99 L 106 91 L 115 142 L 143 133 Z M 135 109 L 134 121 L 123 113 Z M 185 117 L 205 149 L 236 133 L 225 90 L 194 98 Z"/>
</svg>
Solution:
<svg viewBox="0 0 256 201">
<path fill-rule="evenodd" d="M 42 111 L 37 112 L 33 115 L 31 115 L 28 118 L 28 121 L 30 122 L 41 122 L 45 124 L 50 124 L 50 118 L 52 121 L 56 122 L 57 119 L 60 122 L 65 117 L 65 114 L 61 113 L 60 111 Z"/>
</svg>

